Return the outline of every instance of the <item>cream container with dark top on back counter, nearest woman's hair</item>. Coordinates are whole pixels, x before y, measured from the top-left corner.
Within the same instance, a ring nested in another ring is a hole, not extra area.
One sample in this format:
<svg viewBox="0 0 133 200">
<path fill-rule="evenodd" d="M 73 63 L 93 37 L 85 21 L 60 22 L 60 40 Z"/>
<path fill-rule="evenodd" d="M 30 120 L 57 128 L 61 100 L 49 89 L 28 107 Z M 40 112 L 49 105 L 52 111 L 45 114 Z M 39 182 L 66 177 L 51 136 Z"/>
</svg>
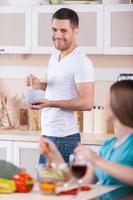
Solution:
<svg viewBox="0 0 133 200">
<path fill-rule="evenodd" d="M 106 119 L 103 106 L 94 108 L 94 134 L 106 134 Z"/>
</svg>

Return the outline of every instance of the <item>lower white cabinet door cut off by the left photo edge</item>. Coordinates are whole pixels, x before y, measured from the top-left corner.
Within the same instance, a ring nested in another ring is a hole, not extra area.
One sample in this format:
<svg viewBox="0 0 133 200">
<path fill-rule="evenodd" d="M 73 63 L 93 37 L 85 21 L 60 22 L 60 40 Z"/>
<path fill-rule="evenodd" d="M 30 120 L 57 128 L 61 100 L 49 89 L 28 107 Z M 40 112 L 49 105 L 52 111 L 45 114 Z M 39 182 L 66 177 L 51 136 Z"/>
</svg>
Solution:
<svg viewBox="0 0 133 200">
<path fill-rule="evenodd" d="M 0 160 L 13 161 L 12 141 L 0 141 Z"/>
</svg>

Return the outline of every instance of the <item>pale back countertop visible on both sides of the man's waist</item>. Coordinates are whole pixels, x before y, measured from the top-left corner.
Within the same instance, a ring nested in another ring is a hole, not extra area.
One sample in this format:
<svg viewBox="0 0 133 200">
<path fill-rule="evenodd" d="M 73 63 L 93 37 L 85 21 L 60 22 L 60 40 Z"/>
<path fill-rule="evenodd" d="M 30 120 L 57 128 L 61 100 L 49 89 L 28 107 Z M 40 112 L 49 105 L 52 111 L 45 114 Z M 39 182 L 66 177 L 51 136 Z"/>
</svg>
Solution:
<svg viewBox="0 0 133 200">
<path fill-rule="evenodd" d="M 41 136 L 40 131 L 24 131 L 24 130 L 0 130 L 0 140 L 8 141 L 26 141 L 37 142 Z M 101 145 L 103 142 L 112 137 L 113 134 L 89 134 L 81 133 L 81 143 L 90 145 Z"/>
</svg>

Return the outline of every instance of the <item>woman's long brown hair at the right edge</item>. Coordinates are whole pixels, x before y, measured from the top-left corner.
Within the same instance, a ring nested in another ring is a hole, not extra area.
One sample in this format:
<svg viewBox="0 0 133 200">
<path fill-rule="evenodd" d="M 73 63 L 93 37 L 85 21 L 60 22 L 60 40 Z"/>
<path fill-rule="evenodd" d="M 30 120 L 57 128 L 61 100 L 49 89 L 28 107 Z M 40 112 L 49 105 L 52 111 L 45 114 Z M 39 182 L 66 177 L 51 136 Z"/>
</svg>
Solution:
<svg viewBox="0 0 133 200">
<path fill-rule="evenodd" d="M 110 106 L 123 125 L 133 128 L 133 80 L 117 81 L 111 86 Z"/>
</svg>

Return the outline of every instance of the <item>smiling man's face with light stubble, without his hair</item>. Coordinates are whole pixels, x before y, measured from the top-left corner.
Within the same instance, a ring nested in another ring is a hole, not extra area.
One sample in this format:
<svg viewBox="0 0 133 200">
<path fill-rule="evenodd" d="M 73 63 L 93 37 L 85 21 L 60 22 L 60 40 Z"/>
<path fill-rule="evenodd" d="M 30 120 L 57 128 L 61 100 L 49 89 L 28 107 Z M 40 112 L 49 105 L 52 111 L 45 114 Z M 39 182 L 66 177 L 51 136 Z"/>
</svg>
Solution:
<svg viewBox="0 0 133 200">
<path fill-rule="evenodd" d="M 52 40 L 56 49 L 64 51 L 69 49 L 71 45 L 76 44 L 76 35 L 78 28 L 70 24 L 67 19 L 52 20 Z"/>
</svg>

